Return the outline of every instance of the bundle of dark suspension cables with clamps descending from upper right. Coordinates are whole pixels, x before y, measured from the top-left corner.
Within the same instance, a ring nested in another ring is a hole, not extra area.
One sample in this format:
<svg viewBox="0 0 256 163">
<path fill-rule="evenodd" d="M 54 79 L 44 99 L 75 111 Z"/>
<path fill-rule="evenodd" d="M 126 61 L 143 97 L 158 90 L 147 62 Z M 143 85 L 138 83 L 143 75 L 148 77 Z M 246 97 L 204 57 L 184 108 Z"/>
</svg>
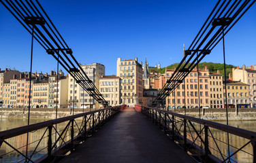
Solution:
<svg viewBox="0 0 256 163">
<path fill-rule="evenodd" d="M 163 103 L 165 98 L 184 82 L 185 77 L 206 55 L 210 54 L 219 41 L 223 39 L 254 3 L 255 0 L 219 0 L 217 2 L 195 39 L 193 39 L 191 46 L 185 50 L 185 56 L 180 61 L 180 64 L 170 79 L 167 79 L 157 98 L 153 101 L 153 107 L 156 107 L 158 103 Z"/>
</svg>

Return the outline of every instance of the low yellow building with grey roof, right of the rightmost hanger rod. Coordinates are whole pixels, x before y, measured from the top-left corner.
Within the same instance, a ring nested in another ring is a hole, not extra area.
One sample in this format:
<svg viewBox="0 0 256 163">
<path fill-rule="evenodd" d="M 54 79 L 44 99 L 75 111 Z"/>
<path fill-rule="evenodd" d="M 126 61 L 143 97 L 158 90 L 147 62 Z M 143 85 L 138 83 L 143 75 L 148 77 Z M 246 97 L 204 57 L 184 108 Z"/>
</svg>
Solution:
<svg viewBox="0 0 256 163">
<path fill-rule="evenodd" d="M 249 107 L 249 85 L 242 82 L 227 83 L 227 105 L 229 107 Z M 225 102 L 225 84 L 223 84 L 223 98 Z"/>
</svg>

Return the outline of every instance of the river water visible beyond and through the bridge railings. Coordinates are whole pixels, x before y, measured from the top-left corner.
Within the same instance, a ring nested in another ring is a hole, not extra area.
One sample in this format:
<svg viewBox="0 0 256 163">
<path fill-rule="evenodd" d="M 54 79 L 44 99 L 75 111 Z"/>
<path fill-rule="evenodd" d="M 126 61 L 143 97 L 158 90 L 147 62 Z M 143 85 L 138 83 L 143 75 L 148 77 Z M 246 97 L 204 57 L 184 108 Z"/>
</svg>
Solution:
<svg viewBox="0 0 256 163">
<path fill-rule="evenodd" d="M 30 121 L 30 124 L 35 124 L 38 122 L 44 122 L 46 121 L 46 119 L 32 119 Z M 218 121 L 221 124 L 225 124 L 226 122 L 224 121 Z M 229 121 L 229 125 L 230 126 L 234 126 L 237 128 L 243 128 L 246 130 L 251 130 L 251 131 L 255 131 L 256 132 L 256 127 L 255 127 L 255 122 L 256 120 L 248 120 L 248 121 Z M 0 131 L 3 130 L 9 130 L 12 128 L 17 128 L 20 126 L 26 126 L 27 125 L 27 120 L 26 119 L 20 119 L 20 118 L 6 118 L 6 119 L 0 119 Z M 65 128 L 67 122 L 59 124 L 58 125 L 58 130 L 62 130 L 63 128 Z M 79 122 L 78 122 L 79 125 Z M 199 126 L 196 126 L 196 128 L 198 128 Z M 29 134 L 29 142 L 34 142 L 37 141 L 38 139 L 40 139 L 42 137 L 42 135 L 44 134 L 45 129 L 42 130 L 37 130 L 36 133 L 32 133 Z M 224 132 L 220 132 L 219 130 L 214 130 L 211 129 L 212 134 L 214 135 L 214 138 L 216 139 L 216 141 L 218 142 L 218 145 L 221 149 L 222 153 L 227 154 L 227 146 L 225 145 L 225 143 L 223 142 L 227 142 L 227 134 L 225 134 Z M 36 158 L 39 158 L 41 156 L 43 156 L 46 152 L 47 152 L 47 133 L 44 136 L 45 139 L 42 139 L 42 142 L 40 143 L 38 149 L 37 149 L 37 153 L 35 154 L 35 156 L 33 156 L 33 160 L 35 160 Z M 54 140 L 55 137 L 52 137 L 52 139 Z M 67 132 L 67 137 L 65 137 L 65 140 L 69 140 L 69 132 Z M 218 141 L 219 140 L 219 141 Z M 8 139 L 7 140 L 8 143 L 11 143 L 12 145 L 15 144 L 16 147 L 20 147 L 20 151 L 22 153 L 25 153 L 26 151 L 26 143 L 27 143 L 27 134 L 22 134 L 19 137 L 14 137 L 12 139 Z M 229 134 L 229 142 L 231 143 L 231 145 L 234 145 L 235 147 L 242 147 L 242 145 L 244 145 L 246 142 L 248 142 L 248 140 L 246 139 L 242 139 L 240 137 L 236 137 L 234 135 Z M 33 149 L 35 148 L 35 146 L 37 145 L 37 143 L 33 143 L 31 145 L 29 145 L 29 153 L 33 152 Z M 219 157 L 221 157 L 221 155 L 219 155 L 219 152 L 215 151 L 217 149 L 217 147 L 214 144 L 213 139 L 209 139 L 209 145 L 210 147 L 212 147 L 212 149 L 210 148 L 210 150 L 212 151 L 212 154 L 217 155 Z M 234 151 L 236 151 L 236 149 L 234 147 L 230 148 L 230 153 L 233 153 Z M 252 147 L 251 145 L 248 145 L 247 147 L 244 148 L 244 151 L 248 152 L 248 153 L 252 153 Z M 252 156 L 246 152 L 238 152 L 237 154 L 235 154 L 232 159 L 233 161 L 231 162 L 252 162 Z M 7 154 L 5 154 L 7 153 Z M 5 154 L 5 155 L 3 155 Z M 2 156 L 2 158 L 1 158 Z M 0 148 L 0 162 L 24 162 L 23 157 L 16 153 L 15 151 L 13 151 L 13 149 L 11 149 L 10 147 L 8 147 L 5 143 L 3 143 L 3 145 Z"/>
</svg>

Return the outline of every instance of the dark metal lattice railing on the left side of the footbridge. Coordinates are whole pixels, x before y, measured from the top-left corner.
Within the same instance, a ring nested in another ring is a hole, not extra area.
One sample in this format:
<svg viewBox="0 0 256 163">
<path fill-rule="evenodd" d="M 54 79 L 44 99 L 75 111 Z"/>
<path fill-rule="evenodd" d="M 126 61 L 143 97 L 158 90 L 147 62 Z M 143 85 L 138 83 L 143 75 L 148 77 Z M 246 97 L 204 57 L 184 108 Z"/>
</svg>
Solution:
<svg viewBox="0 0 256 163">
<path fill-rule="evenodd" d="M 16 152 L 19 155 L 19 160 L 15 160 L 16 162 L 57 162 L 67 152 L 74 151 L 80 143 L 85 141 L 86 137 L 93 134 L 125 106 L 108 107 L 2 131 L 0 132 L 0 149 L 5 145 L 12 150 L 1 153 L 0 158 L 4 160 L 7 154 Z M 63 128 L 57 128 L 57 124 L 58 126 L 62 124 Z M 26 137 L 26 134 L 31 139 L 29 147 L 32 149 L 29 153 L 23 150 L 26 145 L 20 147 L 12 141 L 16 137 Z M 32 139 L 33 137 L 38 139 Z M 39 157 L 38 153 L 41 154 Z"/>
</svg>

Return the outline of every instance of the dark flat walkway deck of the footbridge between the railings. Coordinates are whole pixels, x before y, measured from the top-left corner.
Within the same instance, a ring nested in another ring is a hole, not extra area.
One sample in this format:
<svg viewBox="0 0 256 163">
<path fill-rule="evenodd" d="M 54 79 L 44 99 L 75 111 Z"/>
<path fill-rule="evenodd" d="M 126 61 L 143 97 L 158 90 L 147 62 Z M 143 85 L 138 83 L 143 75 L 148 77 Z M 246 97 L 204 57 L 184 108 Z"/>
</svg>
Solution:
<svg viewBox="0 0 256 163">
<path fill-rule="evenodd" d="M 193 162 L 143 116 L 125 109 L 61 162 Z"/>
</svg>

